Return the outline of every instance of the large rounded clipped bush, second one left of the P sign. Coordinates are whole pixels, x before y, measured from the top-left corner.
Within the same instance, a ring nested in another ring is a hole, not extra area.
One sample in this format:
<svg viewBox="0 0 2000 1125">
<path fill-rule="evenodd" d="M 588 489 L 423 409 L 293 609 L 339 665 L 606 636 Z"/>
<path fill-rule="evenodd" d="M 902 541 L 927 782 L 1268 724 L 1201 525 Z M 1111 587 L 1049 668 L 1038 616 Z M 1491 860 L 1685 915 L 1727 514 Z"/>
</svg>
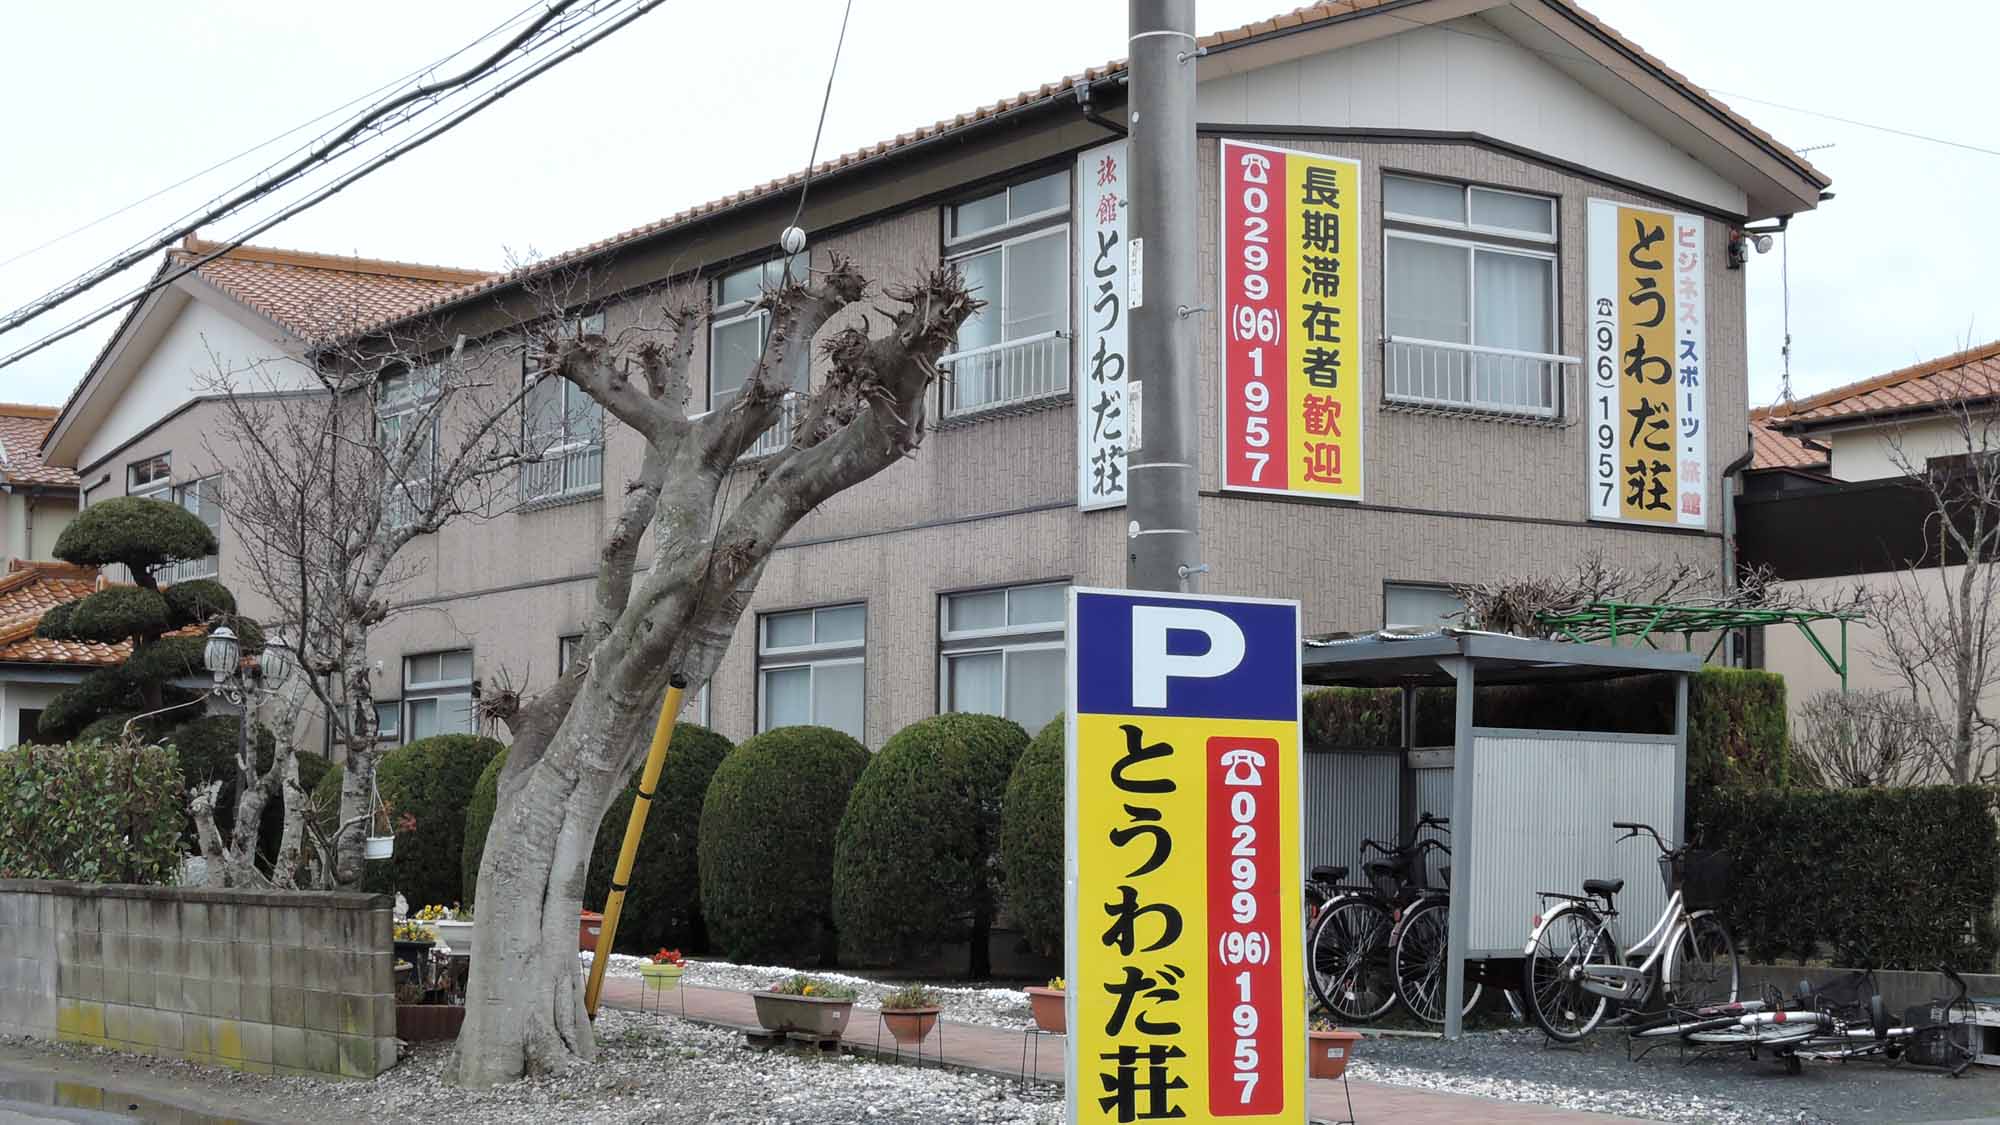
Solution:
<svg viewBox="0 0 2000 1125">
<path fill-rule="evenodd" d="M 1000 807 L 1026 747 L 1028 733 L 996 715 L 936 715 L 882 747 L 854 785 L 834 843 L 844 953 L 888 965 L 968 941 L 968 973 L 992 975 Z"/>
</svg>

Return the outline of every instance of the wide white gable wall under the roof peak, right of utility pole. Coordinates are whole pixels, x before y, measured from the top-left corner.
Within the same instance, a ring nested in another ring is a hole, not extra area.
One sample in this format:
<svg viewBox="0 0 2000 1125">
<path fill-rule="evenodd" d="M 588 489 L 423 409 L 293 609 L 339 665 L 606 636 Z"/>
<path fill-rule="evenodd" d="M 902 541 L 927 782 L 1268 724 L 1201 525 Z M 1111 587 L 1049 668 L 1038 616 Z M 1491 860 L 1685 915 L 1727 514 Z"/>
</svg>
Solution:
<svg viewBox="0 0 2000 1125">
<path fill-rule="evenodd" d="M 1496 42 L 1498 40 L 1498 42 Z M 1744 214 L 1742 188 L 1478 18 L 1212 78 L 1202 124 L 1480 134 Z"/>
</svg>

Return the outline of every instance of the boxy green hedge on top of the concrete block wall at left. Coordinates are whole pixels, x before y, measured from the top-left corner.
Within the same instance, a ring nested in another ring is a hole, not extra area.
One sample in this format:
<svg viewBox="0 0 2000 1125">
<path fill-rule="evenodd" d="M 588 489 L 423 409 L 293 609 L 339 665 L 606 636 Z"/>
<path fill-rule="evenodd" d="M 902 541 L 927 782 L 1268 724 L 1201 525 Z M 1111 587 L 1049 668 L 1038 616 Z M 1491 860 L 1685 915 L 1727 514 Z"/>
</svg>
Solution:
<svg viewBox="0 0 2000 1125">
<path fill-rule="evenodd" d="M 0 879 L 172 883 L 184 817 L 170 747 L 0 751 Z"/>
</svg>

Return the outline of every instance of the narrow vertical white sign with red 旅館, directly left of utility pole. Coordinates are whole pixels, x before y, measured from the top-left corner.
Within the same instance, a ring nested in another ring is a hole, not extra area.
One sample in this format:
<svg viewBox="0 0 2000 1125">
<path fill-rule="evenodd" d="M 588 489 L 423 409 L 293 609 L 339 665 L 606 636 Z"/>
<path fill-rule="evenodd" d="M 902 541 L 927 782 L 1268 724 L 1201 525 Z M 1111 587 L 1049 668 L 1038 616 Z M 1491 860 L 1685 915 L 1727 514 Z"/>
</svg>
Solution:
<svg viewBox="0 0 2000 1125">
<path fill-rule="evenodd" d="M 1138 384 L 1126 348 L 1126 142 L 1076 156 L 1076 506 L 1126 502 L 1126 454 L 1138 444 Z"/>
</svg>

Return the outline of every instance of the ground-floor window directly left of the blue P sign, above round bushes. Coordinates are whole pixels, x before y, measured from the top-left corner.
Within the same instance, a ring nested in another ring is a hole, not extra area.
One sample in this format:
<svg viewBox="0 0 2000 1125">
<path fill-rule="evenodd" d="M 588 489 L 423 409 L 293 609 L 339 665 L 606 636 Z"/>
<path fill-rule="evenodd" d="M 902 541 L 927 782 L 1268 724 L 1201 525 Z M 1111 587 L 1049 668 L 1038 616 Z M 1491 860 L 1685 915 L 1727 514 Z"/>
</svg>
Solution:
<svg viewBox="0 0 2000 1125">
<path fill-rule="evenodd" d="M 1062 583 L 944 595 L 938 607 L 942 711 L 1004 715 L 1030 735 L 1062 713 Z"/>
</svg>

